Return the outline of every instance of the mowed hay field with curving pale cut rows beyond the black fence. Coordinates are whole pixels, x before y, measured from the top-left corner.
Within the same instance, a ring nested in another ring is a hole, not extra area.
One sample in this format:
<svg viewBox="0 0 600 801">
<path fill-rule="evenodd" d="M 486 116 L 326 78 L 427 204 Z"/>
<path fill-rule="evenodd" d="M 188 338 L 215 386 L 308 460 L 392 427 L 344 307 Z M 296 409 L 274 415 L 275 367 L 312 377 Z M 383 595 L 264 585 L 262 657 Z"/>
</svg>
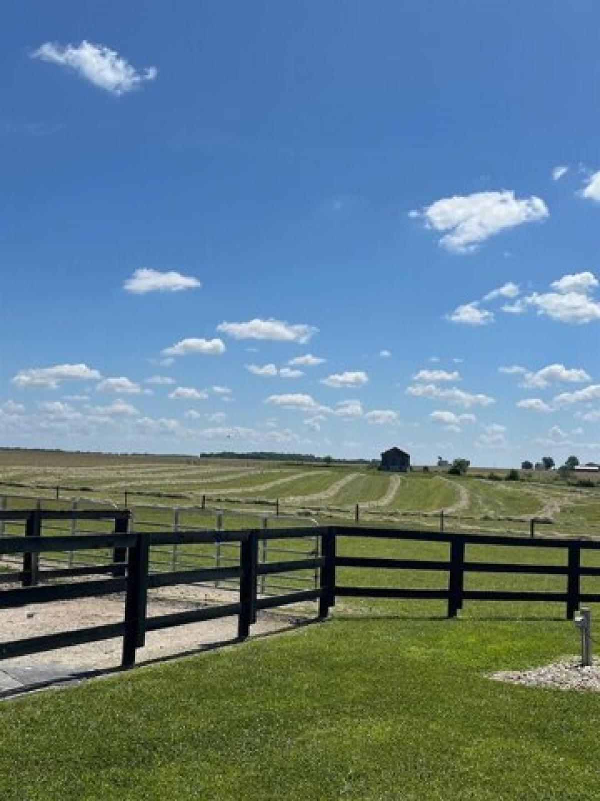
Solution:
<svg viewBox="0 0 600 801">
<path fill-rule="evenodd" d="M 381 473 L 366 465 L 322 465 L 249 459 L 118 456 L 35 451 L 0 452 L 0 496 L 81 498 L 127 504 L 138 518 L 168 521 L 174 506 L 198 507 L 210 525 L 213 509 L 223 525 L 256 525 L 257 516 L 311 516 L 318 521 L 526 533 L 530 517 L 550 523 L 541 532 L 600 533 L 600 487 L 576 487 L 538 475 L 491 481 L 486 473 L 464 477 L 442 472 Z M 161 509 L 160 507 L 163 507 Z M 191 512 L 187 513 L 190 517 Z M 194 513 L 194 520 L 200 520 Z M 286 525 L 290 521 L 286 519 Z"/>
</svg>

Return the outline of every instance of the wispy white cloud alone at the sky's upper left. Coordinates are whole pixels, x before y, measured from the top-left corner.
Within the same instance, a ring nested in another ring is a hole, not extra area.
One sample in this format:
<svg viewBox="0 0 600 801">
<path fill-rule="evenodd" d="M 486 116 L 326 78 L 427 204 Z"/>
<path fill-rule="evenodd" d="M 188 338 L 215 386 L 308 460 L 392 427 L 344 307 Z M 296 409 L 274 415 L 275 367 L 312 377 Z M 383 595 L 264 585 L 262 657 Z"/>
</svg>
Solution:
<svg viewBox="0 0 600 801">
<path fill-rule="evenodd" d="M 110 50 L 105 45 L 86 42 L 85 39 L 78 45 L 45 42 L 31 57 L 66 66 L 81 78 L 113 95 L 125 95 L 142 83 L 154 81 L 158 74 L 155 66 L 149 66 L 140 72 L 115 50 Z"/>
</svg>

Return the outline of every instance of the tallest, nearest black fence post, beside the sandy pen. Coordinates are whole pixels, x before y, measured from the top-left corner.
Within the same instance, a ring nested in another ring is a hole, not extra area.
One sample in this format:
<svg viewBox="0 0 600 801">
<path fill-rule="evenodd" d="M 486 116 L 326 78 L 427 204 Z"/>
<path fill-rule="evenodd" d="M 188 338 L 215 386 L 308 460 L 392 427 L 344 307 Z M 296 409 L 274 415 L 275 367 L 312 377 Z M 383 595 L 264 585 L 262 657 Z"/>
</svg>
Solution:
<svg viewBox="0 0 600 801">
<path fill-rule="evenodd" d="M 146 603 L 148 595 L 148 537 L 138 533 L 135 545 L 127 549 L 127 590 L 122 667 L 133 667 L 135 650 L 146 641 Z"/>
</svg>

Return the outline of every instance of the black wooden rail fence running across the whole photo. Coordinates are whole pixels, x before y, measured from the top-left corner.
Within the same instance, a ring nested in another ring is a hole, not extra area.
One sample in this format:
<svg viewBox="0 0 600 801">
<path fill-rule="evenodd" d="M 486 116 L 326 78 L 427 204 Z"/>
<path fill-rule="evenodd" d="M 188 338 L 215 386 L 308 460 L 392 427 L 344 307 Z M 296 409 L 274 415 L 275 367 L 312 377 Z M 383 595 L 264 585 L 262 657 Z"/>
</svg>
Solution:
<svg viewBox="0 0 600 801">
<path fill-rule="evenodd" d="M 65 520 L 76 515 L 86 520 L 114 521 L 113 533 L 87 533 L 78 535 L 42 536 L 44 520 Z M 101 597 L 125 593 L 125 610 L 122 622 L 58 634 L 0 643 L 0 659 L 54 650 L 64 646 L 109 638 L 123 638 L 122 665 L 134 665 L 135 652 L 145 642 L 146 632 L 170 626 L 238 617 L 238 638 L 244 639 L 256 621 L 259 610 L 286 606 L 298 602 L 318 601 L 318 617 L 326 618 L 338 597 L 353 598 L 413 598 L 437 599 L 447 603 L 448 617 L 454 617 L 465 601 L 526 601 L 560 602 L 566 605 L 566 617 L 573 618 L 580 602 L 600 602 L 600 593 L 582 593 L 583 576 L 600 576 L 600 567 L 583 566 L 582 550 L 600 549 L 600 541 L 490 536 L 482 534 L 432 533 L 395 529 L 352 528 L 346 526 L 320 526 L 306 529 L 244 529 L 240 531 L 194 531 L 181 533 L 132 533 L 127 531 L 128 514 L 122 510 L 50 511 L 35 509 L 0 512 L 0 521 L 10 521 L 25 528 L 25 536 L 0 537 L 0 553 L 22 554 L 22 570 L 0 574 L 0 585 L 21 582 L 22 586 L 0 591 L 0 609 L 26 606 L 32 603 Z M 318 537 L 319 548 L 314 555 L 282 562 L 258 562 L 258 542 L 265 539 Z M 446 543 L 447 560 L 398 559 L 386 557 L 342 556 L 337 553 L 339 537 L 374 537 L 387 540 L 407 540 Z M 239 543 L 238 564 L 226 567 L 202 567 L 194 570 L 177 570 L 170 573 L 150 574 L 149 549 L 154 545 Z M 470 545 L 503 546 L 506 548 L 551 548 L 565 554 L 564 564 L 522 564 L 506 562 L 478 562 L 466 559 Z M 42 553 L 60 550 L 110 549 L 113 560 L 108 565 L 41 570 Z M 446 586 L 440 589 L 387 586 L 344 586 L 336 580 L 337 568 L 381 570 L 442 571 L 447 576 Z M 290 573 L 318 569 L 319 582 L 315 589 L 299 590 L 274 597 L 259 596 L 257 579 L 262 575 Z M 466 590 L 465 576 L 469 573 L 490 574 L 542 574 L 563 576 L 566 588 L 562 592 L 516 590 Z M 59 580 L 98 577 L 85 582 L 63 582 L 43 585 L 46 579 Z M 146 603 L 148 590 L 155 587 L 217 582 L 236 579 L 239 582 L 238 599 L 232 603 L 219 603 L 196 610 L 163 614 L 148 618 Z"/>
</svg>

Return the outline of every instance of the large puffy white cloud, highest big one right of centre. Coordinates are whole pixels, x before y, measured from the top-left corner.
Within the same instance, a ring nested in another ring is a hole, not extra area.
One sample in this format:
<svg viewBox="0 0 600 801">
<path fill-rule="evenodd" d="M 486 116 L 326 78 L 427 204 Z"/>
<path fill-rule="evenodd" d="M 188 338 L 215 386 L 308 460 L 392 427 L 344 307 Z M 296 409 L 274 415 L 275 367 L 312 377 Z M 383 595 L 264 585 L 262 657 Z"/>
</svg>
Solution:
<svg viewBox="0 0 600 801">
<path fill-rule="evenodd" d="M 434 231 L 447 231 L 442 248 L 469 253 L 499 231 L 545 219 L 548 209 L 538 197 L 518 199 L 514 191 L 504 190 L 442 198 L 411 216 L 422 217 Z"/>
</svg>

